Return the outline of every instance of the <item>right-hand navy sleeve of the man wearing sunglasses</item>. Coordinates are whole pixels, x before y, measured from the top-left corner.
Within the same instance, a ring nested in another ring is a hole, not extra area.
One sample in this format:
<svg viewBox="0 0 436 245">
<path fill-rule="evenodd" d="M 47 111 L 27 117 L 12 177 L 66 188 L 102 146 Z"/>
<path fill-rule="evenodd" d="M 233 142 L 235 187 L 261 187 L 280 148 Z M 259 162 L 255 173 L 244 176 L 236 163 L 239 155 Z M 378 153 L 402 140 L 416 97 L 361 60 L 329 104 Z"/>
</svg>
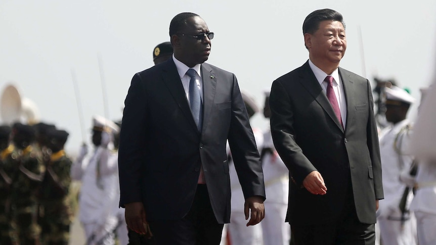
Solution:
<svg viewBox="0 0 436 245">
<path fill-rule="evenodd" d="M 235 75 L 233 75 L 232 116 L 228 140 L 244 198 L 258 195 L 265 200 L 264 173 Z"/>
</svg>

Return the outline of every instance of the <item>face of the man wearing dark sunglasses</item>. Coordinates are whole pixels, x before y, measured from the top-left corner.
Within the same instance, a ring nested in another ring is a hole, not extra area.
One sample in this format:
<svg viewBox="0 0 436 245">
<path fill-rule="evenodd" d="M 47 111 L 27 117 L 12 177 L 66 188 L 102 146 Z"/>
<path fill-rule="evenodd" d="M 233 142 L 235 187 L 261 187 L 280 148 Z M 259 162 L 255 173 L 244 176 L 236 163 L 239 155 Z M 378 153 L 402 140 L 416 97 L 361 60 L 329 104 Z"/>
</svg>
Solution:
<svg viewBox="0 0 436 245">
<path fill-rule="evenodd" d="M 174 56 L 188 67 L 201 64 L 209 58 L 212 38 L 213 32 L 201 17 L 188 18 L 178 34 L 171 36 Z"/>
</svg>

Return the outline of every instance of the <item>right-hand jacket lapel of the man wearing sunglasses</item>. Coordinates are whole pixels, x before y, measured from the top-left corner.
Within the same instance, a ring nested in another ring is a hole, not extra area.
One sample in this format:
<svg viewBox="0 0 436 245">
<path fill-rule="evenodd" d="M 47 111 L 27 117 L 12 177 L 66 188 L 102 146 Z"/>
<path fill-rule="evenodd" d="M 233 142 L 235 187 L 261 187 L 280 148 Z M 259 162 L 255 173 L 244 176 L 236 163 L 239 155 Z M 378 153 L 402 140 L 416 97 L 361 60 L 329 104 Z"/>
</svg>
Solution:
<svg viewBox="0 0 436 245">
<path fill-rule="evenodd" d="M 201 64 L 201 78 L 203 80 L 203 128 L 207 127 L 208 118 L 212 112 L 213 100 L 215 97 L 216 75 L 212 68 L 206 64 Z"/>
</svg>

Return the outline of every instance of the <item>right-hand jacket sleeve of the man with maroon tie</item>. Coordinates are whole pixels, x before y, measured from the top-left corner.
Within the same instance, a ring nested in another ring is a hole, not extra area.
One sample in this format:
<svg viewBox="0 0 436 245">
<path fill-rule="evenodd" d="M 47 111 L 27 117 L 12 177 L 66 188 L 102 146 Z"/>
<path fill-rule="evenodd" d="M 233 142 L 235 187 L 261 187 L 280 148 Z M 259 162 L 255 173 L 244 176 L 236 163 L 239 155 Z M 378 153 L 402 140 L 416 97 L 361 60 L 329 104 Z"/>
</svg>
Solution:
<svg viewBox="0 0 436 245">
<path fill-rule="evenodd" d="M 369 111 L 369 121 L 367 124 L 367 145 L 369 149 L 369 154 L 371 158 L 372 172 L 374 176 L 374 192 L 375 199 L 383 199 L 383 185 L 381 180 L 381 159 L 380 159 L 380 147 L 378 142 L 378 132 L 377 125 L 375 123 L 374 117 L 374 99 L 372 97 L 372 89 L 369 81 L 368 83 L 368 101 L 370 110 Z"/>
</svg>

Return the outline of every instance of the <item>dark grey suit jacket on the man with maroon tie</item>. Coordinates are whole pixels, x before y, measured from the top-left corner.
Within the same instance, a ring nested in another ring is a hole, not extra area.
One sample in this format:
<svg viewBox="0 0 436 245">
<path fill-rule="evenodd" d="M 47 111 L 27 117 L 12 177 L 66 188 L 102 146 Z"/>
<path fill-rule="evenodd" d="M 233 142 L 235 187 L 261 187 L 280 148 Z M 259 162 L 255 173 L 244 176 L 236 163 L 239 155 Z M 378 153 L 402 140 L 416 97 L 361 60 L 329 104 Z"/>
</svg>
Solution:
<svg viewBox="0 0 436 245">
<path fill-rule="evenodd" d="M 357 216 L 375 223 L 375 200 L 383 199 L 381 163 L 373 98 L 367 79 L 339 68 L 346 100 L 343 129 L 309 63 L 273 82 L 271 132 L 277 152 L 289 169 L 286 220 L 297 224 L 334 222 L 353 187 Z M 303 179 L 319 171 L 327 194 L 314 195 Z"/>
</svg>

